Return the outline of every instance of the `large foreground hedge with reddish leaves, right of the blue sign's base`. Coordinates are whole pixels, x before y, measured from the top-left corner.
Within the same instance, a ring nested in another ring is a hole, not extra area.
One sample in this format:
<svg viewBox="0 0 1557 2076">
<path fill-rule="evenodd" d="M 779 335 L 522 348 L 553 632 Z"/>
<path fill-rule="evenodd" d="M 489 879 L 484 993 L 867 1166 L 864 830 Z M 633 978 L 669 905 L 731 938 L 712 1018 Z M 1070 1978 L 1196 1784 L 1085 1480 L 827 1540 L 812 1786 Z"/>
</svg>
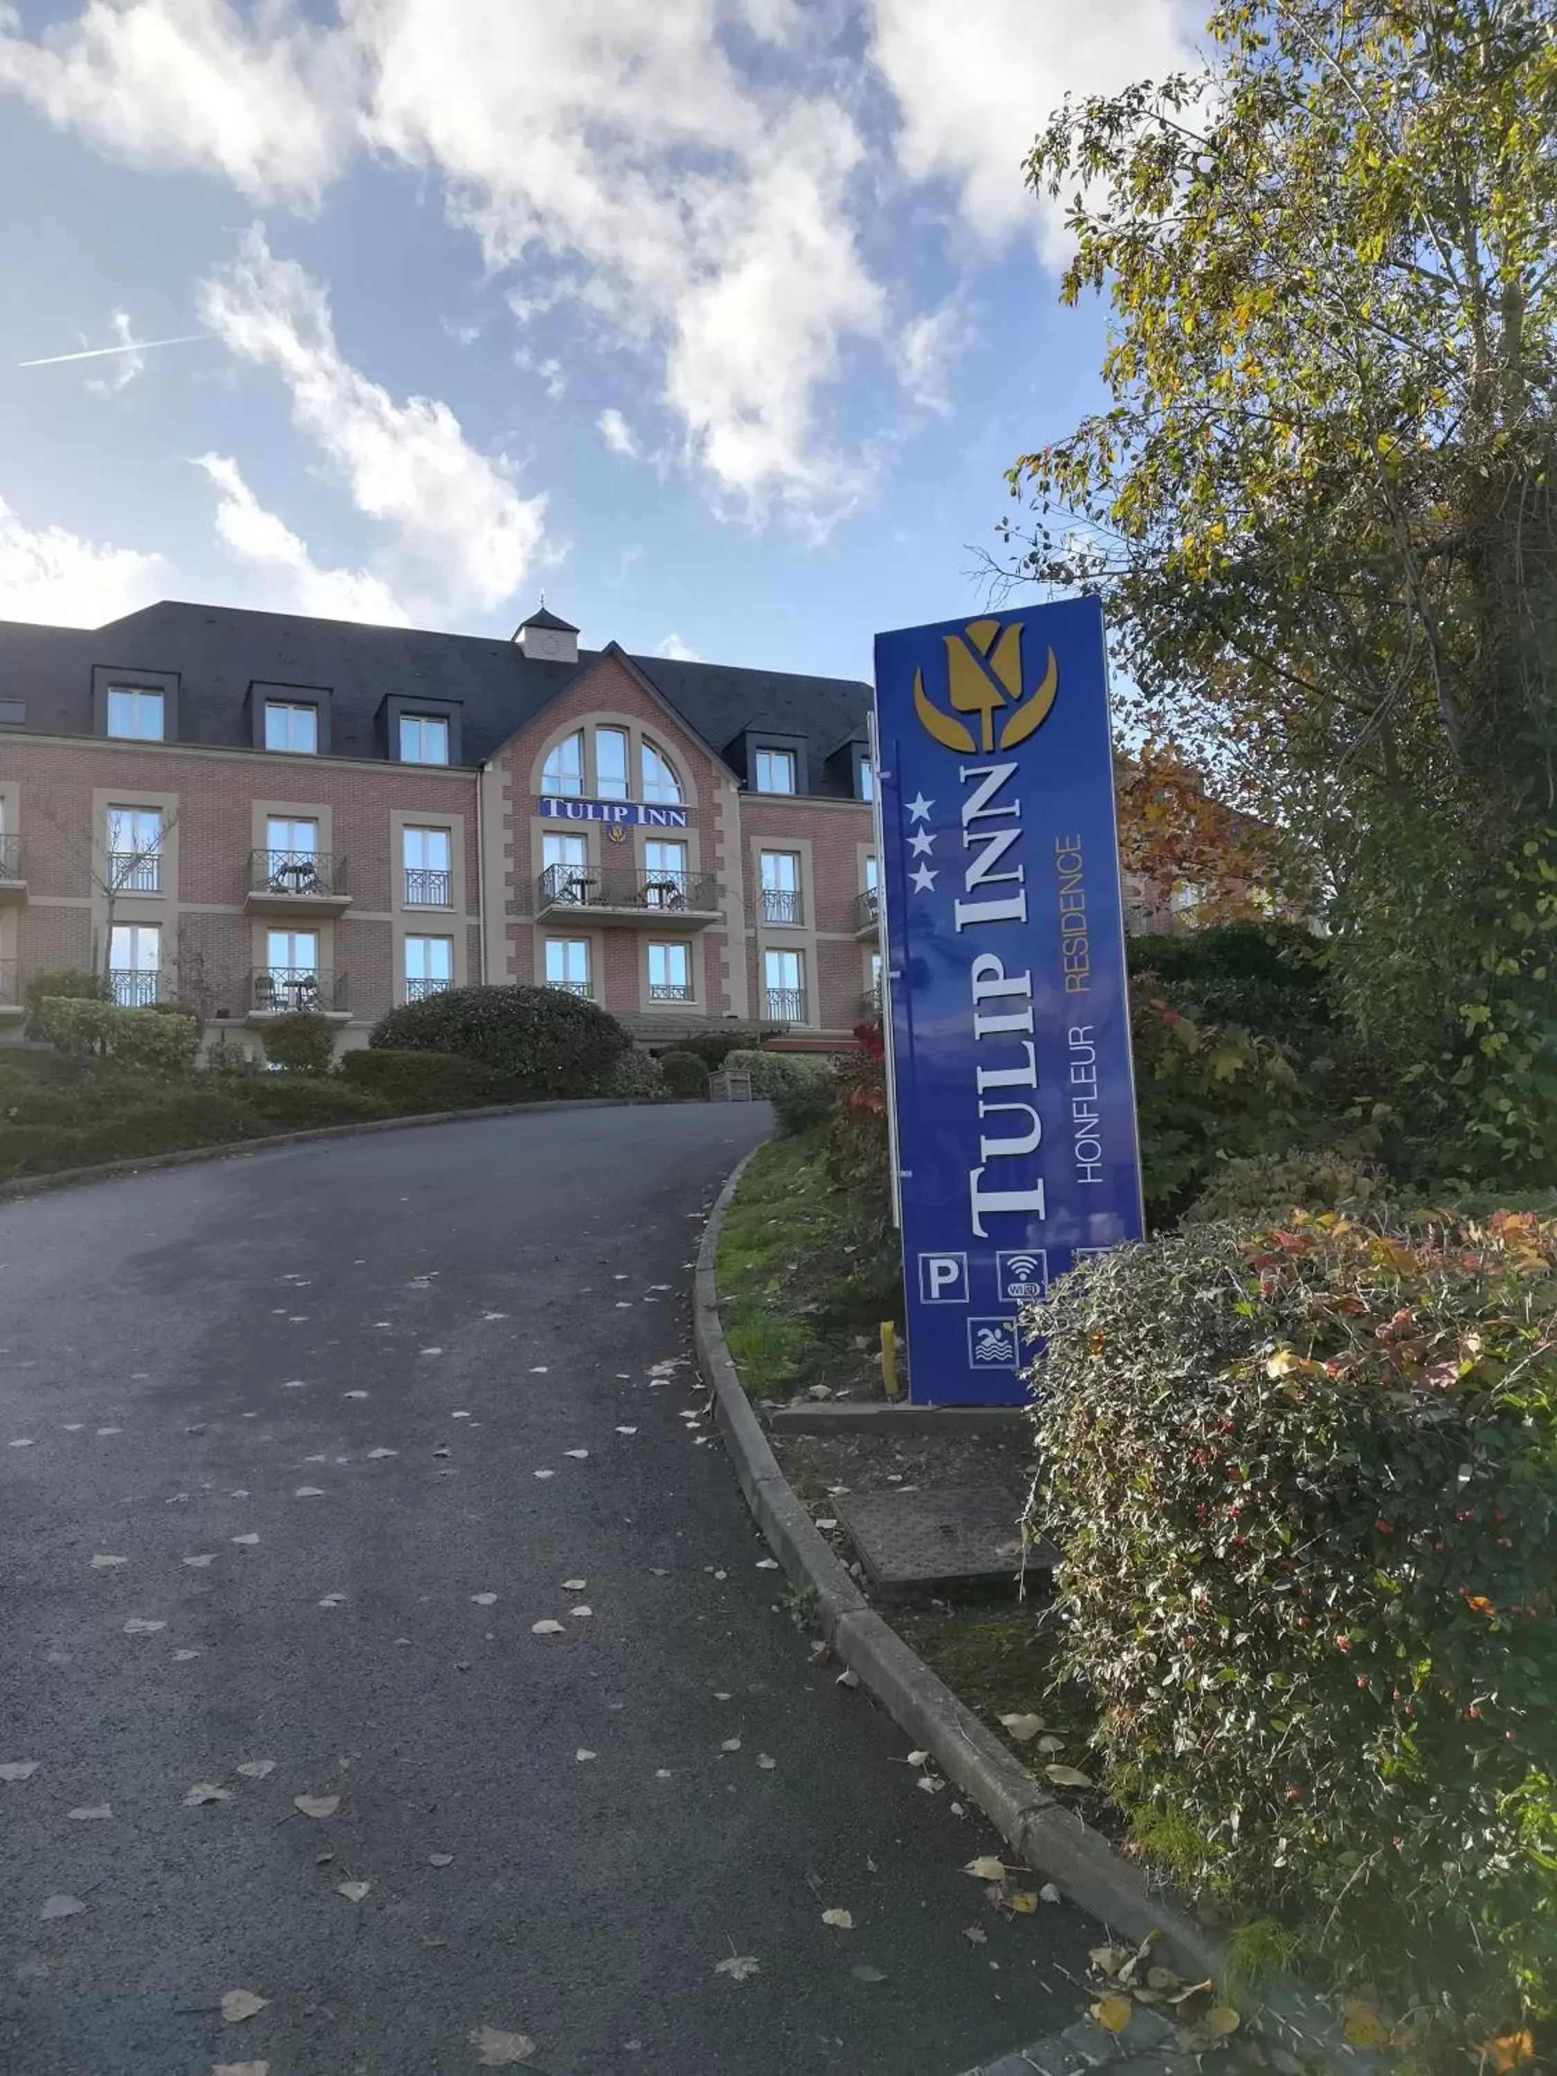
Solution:
<svg viewBox="0 0 1557 2076">
<path fill-rule="evenodd" d="M 1192 1227 L 1040 1324 L 1028 1526 L 1140 1841 L 1424 2059 L 1557 2016 L 1557 1221 Z"/>
</svg>

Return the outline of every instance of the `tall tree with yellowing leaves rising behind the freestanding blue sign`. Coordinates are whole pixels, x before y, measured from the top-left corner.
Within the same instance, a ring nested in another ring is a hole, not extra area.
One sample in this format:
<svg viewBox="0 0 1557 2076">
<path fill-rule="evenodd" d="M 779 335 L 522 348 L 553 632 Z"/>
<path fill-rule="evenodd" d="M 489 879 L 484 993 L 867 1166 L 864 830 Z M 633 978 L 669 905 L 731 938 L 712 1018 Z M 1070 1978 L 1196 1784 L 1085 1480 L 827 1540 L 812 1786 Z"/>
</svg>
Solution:
<svg viewBox="0 0 1557 2076">
<path fill-rule="evenodd" d="M 1065 104 L 1111 407 L 1015 573 L 1104 594 L 1127 729 L 1322 901 L 1343 1001 L 1499 1171 L 1557 1154 L 1557 44 L 1545 0 L 1225 0 Z"/>
</svg>

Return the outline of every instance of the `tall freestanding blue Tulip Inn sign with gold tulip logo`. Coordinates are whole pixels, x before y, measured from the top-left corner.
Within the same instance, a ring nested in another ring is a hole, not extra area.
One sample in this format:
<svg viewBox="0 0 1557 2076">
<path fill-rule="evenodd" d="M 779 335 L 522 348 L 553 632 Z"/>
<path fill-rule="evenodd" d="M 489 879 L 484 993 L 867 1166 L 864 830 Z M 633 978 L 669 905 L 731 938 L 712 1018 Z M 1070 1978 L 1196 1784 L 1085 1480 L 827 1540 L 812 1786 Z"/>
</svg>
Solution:
<svg viewBox="0 0 1557 2076">
<path fill-rule="evenodd" d="M 909 1395 L 1019 1403 L 1142 1233 L 1100 604 L 878 635 L 876 737 Z"/>
</svg>

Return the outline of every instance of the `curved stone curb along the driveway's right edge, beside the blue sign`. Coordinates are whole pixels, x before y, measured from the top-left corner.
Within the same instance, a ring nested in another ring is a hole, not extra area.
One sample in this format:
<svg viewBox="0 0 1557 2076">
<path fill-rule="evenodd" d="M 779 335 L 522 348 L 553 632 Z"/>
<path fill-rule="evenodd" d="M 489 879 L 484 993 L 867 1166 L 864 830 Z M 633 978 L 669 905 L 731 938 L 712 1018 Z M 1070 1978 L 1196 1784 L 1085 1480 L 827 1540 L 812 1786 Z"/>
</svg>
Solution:
<svg viewBox="0 0 1557 2076">
<path fill-rule="evenodd" d="M 1154 1933 L 1173 1968 L 1221 1978 L 1227 1954 L 1146 1875 L 1065 1808 L 967 1709 L 859 1592 L 795 1497 L 745 1395 L 718 1322 L 714 1258 L 725 1212 L 747 1169 L 739 1163 L 704 1227 L 693 1275 L 698 1368 L 758 1526 L 791 1580 L 816 1594 L 818 1623 L 862 1686 L 928 1750 L 949 1781 L 984 1810 L 1001 1837 L 1044 1881 L 1127 1939 Z"/>
</svg>

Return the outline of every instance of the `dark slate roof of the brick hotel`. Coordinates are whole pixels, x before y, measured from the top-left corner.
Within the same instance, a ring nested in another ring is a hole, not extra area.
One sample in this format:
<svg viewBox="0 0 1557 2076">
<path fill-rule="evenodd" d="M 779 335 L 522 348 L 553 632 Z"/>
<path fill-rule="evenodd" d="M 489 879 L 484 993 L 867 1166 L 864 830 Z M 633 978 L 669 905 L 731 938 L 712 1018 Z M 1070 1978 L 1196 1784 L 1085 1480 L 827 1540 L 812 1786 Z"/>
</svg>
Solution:
<svg viewBox="0 0 1557 2076">
<path fill-rule="evenodd" d="M 0 621 L 0 700 L 27 702 L 29 735 L 91 735 L 93 666 L 176 671 L 179 739 L 249 749 L 251 683 L 326 685 L 330 754 L 374 760 L 384 756 L 384 698 L 459 700 L 465 764 L 482 764 L 598 656 L 579 650 L 577 664 L 544 662 L 492 635 L 162 600 L 95 629 Z M 849 795 L 847 760 L 826 760 L 864 733 L 870 685 L 664 656 L 633 662 L 714 749 L 725 752 L 749 727 L 799 735 L 810 745 L 812 793 Z M 0 731 L 0 760 L 4 741 Z"/>
</svg>

